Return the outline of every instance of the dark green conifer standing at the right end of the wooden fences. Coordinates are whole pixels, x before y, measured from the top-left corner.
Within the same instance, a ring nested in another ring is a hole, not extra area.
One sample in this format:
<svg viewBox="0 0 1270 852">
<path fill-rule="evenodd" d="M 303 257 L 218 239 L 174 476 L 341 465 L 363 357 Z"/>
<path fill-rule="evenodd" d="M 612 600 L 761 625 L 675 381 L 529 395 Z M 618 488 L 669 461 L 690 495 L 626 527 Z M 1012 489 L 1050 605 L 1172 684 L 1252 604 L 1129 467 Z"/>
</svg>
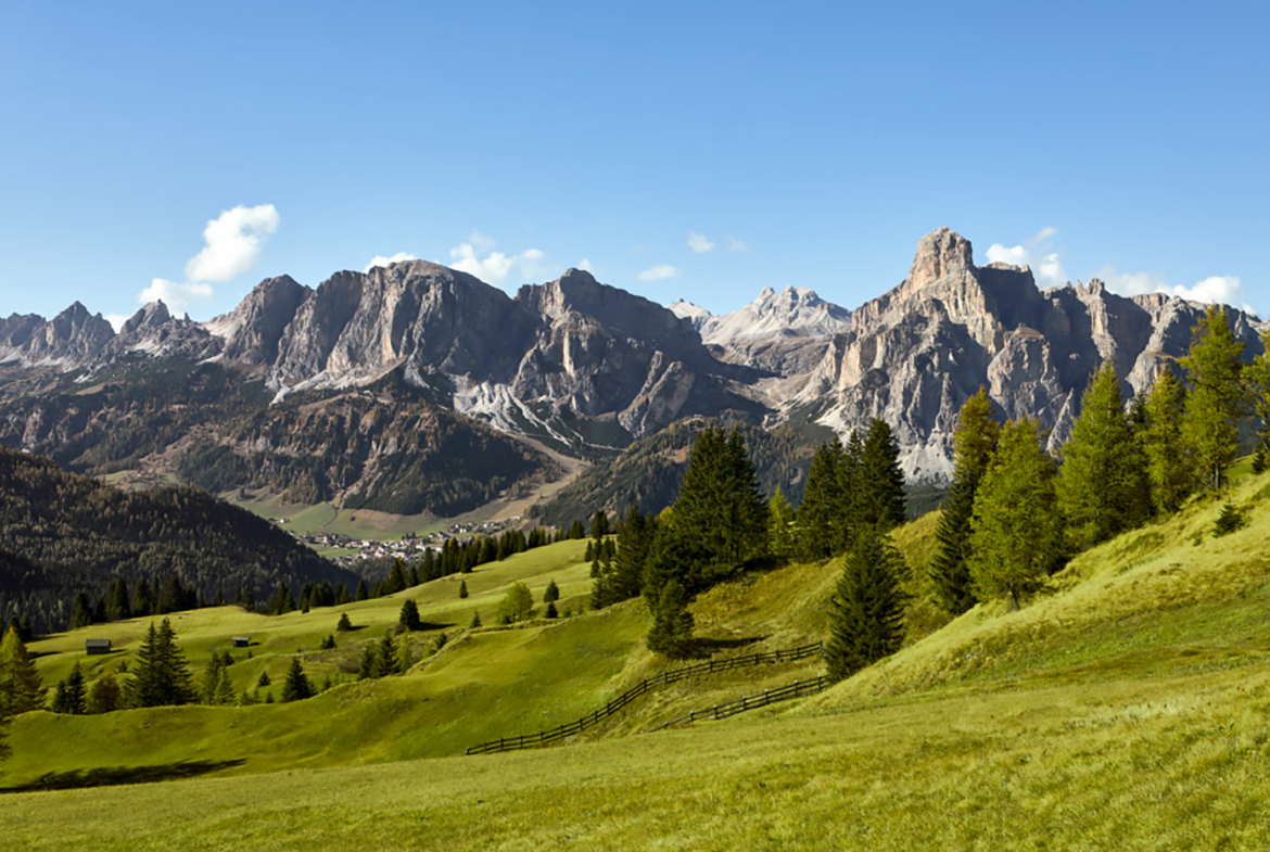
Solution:
<svg viewBox="0 0 1270 852">
<path fill-rule="evenodd" d="M 834 681 L 899 650 L 904 640 L 903 561 L 874 526 L 861 526 L 842 562 L 826 658 Z"/>
</svg>

